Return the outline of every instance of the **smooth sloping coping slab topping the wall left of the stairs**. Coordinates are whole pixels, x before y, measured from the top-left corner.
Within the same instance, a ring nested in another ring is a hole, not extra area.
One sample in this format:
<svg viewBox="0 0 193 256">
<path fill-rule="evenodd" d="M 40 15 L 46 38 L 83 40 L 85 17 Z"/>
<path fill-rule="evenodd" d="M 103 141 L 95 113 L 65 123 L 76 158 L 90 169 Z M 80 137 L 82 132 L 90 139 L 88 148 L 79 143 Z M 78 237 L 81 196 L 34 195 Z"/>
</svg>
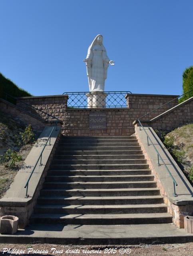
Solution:
<svg viewBox="0 0 193 256">
<path fill-rule="evenodd" d="M 50 158 L 50 154 L 52 153 L 52 149 L 54 148 L 58 135 L 60 134 L 60 127 L 58 127 L 57 131 L 54 130 L 52 133 L 51 146 L 48 144 L 44 149 L 44 152 L 42 154 L 42 166 L 39 166 L 39 164 L 37 164 L 34 173 L 32 174 L 28 186 L 28 194 L 30 195 L 28 198 L 25 198 L 26 188 L 24 188 L 24 186 L 26 185 L 32 168 L 36 164 L 37 158 L 39 157 L 46 143 L 46 140 L 48 139 L 50 132 L 52 131 L 52 128 L 53 126 L 46 126 L 44 128 L 37 142 L 34 144 L 32 150 L 24 161 L 21 169 L 16 174 L 10 188 L 7 190 L 4 197 L 0 199 L 0 206 L 26 206 L 31 203 L 36 189 L 38 188 L 41 176 L 44 172 L 44 168 Z"/>
</svg>

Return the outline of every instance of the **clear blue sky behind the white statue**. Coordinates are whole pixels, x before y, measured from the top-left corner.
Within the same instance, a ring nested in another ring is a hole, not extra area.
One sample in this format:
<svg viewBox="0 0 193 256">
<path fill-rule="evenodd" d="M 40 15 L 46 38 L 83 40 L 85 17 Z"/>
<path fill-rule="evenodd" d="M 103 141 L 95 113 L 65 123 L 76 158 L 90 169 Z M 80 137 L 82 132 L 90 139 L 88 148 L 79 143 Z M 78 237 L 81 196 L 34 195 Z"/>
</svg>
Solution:
<svg viewBox="0 0 193 256">
<path fill-rule="evenodd" d="M 181 94 L 193 65 L 192 0 L 0 0 L 0 72 L 35 96 L 88 91 L 97 34 L 105 91 Z"/>
</svg>

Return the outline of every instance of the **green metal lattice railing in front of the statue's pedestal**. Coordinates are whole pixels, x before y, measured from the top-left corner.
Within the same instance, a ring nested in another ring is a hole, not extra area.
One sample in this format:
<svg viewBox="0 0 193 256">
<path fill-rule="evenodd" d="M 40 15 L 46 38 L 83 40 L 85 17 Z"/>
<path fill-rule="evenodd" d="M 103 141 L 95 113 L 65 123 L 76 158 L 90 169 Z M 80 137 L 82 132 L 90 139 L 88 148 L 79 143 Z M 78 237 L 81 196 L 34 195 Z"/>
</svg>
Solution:
<svg viewBox="0 0 193 256">
<path fill-rule="evenodd" d="M 127 108 L 125 95 L 120 92 L 64 92 L 68 94 L 68 108 Z"/>
</svg>

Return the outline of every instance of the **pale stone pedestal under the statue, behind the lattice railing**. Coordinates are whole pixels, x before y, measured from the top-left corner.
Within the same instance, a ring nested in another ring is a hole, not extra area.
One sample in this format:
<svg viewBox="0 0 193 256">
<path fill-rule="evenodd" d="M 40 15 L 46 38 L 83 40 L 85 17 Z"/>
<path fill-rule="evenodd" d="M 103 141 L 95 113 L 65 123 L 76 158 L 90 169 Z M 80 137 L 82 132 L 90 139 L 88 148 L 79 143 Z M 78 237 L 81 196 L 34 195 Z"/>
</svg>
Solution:
<svg viewBox="0 0 193 256">
<path fill-rule="evenodd" d="M 88 108 L 105 108 L 106 107 L 106 96 L 105 93 L 95 93 L 91 92 L 90 94 L 86 94 Z"/>
</svg>

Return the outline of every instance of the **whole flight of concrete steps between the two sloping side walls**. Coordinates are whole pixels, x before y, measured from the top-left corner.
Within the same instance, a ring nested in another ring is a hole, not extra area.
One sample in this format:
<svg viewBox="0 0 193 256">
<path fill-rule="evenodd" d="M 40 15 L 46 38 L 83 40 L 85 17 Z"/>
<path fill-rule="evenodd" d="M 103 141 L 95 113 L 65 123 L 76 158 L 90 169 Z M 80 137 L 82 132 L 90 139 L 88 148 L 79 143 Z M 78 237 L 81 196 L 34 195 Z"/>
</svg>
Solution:
<svg viewBox="0 0 193 256">
<path fill-rule="evenodd" d="M 171 223 L 134 136 L 62 137 L 32 224 Z"/>
</svg>

